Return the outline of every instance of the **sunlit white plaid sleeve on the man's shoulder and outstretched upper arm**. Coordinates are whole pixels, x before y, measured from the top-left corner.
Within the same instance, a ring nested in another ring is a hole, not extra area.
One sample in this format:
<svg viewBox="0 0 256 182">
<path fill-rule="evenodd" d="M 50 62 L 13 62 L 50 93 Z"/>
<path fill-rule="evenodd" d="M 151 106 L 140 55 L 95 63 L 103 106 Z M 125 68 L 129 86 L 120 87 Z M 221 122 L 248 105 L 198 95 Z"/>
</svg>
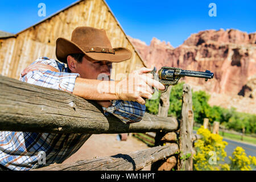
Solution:
<svg viewBox="0 0 256 182">
<path fill-rule="evenodd" d="M 39 63 L 46 64 L 49 62 L 48 60 L 46 60 L 40 61 Z M 57 64 L 55 65 L 53 63 L 52 66 L 58 68 Z M 28 72 L 27 75 L 20 77 L 20 81 L 27 82 L 28 84 L 44 86 L 47 88 L 63 90 L 65 92 L 73 93 L 77 77 L 80 77 L 79 73 L 31 71 Z"/>
</svg>

